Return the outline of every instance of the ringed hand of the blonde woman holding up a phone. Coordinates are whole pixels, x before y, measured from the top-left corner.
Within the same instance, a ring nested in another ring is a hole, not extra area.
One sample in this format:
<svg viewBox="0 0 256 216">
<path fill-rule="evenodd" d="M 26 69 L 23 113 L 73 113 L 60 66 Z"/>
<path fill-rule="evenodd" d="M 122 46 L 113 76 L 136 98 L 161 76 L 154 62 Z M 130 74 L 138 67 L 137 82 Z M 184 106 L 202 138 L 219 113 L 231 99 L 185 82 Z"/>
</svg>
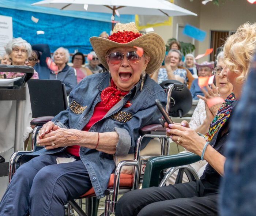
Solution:
<svg viewBox="0 0 256 216">
<path fill-rule="evenodd" d="M 175 143 L 197 155 L 202 154 L 206 141 L 203 137 L 199 136 L 195 130 L 177 124 L 166 124 L 165 126 L 167 126 L 166 135 L 169 136 Z"/>
</svg>

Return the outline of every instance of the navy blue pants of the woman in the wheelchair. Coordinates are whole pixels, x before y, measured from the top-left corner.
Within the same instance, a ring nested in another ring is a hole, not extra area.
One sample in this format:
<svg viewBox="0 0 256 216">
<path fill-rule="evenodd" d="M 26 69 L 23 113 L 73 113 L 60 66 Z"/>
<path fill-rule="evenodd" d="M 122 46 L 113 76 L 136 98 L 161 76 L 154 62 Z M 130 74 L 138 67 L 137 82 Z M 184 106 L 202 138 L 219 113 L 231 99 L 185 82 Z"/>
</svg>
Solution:
<svg viewBox="0 0 256 216">
<path fill-rule="evenodd" d="M 63 216 L 68 200 L 92 187 L 82 160 L 56 164 L 57 157 L 70 156 L 66 152 L 40 155 L 22 164 L 0 202 L 0 215 Z"/>
</svg>

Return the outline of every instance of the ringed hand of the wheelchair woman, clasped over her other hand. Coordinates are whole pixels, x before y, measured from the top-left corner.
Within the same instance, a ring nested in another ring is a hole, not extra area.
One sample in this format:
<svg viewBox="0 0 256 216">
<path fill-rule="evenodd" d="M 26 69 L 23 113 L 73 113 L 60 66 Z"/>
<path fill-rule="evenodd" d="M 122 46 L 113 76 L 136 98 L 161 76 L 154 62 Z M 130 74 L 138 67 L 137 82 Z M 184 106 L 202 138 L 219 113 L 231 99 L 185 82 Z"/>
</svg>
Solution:
<svg viewBox="0 0 256 216">
<path fill-rule="evenodd" d="M 45 145 L 46 149 L 65 147 L 76 145 L 82 141 L 82 132 L 76 129 L 59 128 L 55 131 L 51 130 L 46 133 L 41 139 L 38 137 L 37 143 Z M 52 144 L 54 143 L 54 146 Z"/>
</svg>

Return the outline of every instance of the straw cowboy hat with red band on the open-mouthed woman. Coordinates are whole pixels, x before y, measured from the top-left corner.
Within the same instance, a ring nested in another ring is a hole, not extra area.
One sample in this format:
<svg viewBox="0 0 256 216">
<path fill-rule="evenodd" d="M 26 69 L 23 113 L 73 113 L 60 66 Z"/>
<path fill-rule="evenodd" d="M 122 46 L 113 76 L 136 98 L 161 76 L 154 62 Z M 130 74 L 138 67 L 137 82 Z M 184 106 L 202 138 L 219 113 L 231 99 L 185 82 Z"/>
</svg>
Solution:
<svg viewBox="0 0 256 216">
<path fill-rule="evenodd" d="M 132 33 L 130 31 L 132 31 Z M 146 73 L 151 74 L 157 70 L 163 62 L 165 57 L 165 42 L 156 33 L 140 35 L 141 34 L 134 22 L 126 24 L 117 23 L 112 31 L 112 35 L 109 36 L 109 39 L 91 37 L 90 42 L 99 61 L 108 70 L 109 67 L 105 60 L 105 56 L 110 49 L 127 46 L 138 46 L 143 48 L 144 52 L 150 57 L 150 61 L 148 62 L 145 71 Z"/>
</svg>

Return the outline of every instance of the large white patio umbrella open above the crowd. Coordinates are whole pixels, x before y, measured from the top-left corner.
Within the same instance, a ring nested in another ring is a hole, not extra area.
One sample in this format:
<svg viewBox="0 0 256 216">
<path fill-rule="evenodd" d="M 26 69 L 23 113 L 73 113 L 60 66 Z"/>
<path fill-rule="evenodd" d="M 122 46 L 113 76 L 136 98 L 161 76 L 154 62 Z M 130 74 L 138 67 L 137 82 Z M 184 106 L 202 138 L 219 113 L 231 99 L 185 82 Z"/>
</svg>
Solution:
<svg viewBox="0 0 256 216">
<path fill-rule="evenodd" d="M 102 12 L 108 14 L 138 14 L 154 16 L 184 16 L 197 14 L 166 0 L 43 0 L 31 5 L 60 10 Z M 87 10 L 85 10 L 86 8 Z M 113 29 L 114 23 L 112 23 Z"/>
</svg>

